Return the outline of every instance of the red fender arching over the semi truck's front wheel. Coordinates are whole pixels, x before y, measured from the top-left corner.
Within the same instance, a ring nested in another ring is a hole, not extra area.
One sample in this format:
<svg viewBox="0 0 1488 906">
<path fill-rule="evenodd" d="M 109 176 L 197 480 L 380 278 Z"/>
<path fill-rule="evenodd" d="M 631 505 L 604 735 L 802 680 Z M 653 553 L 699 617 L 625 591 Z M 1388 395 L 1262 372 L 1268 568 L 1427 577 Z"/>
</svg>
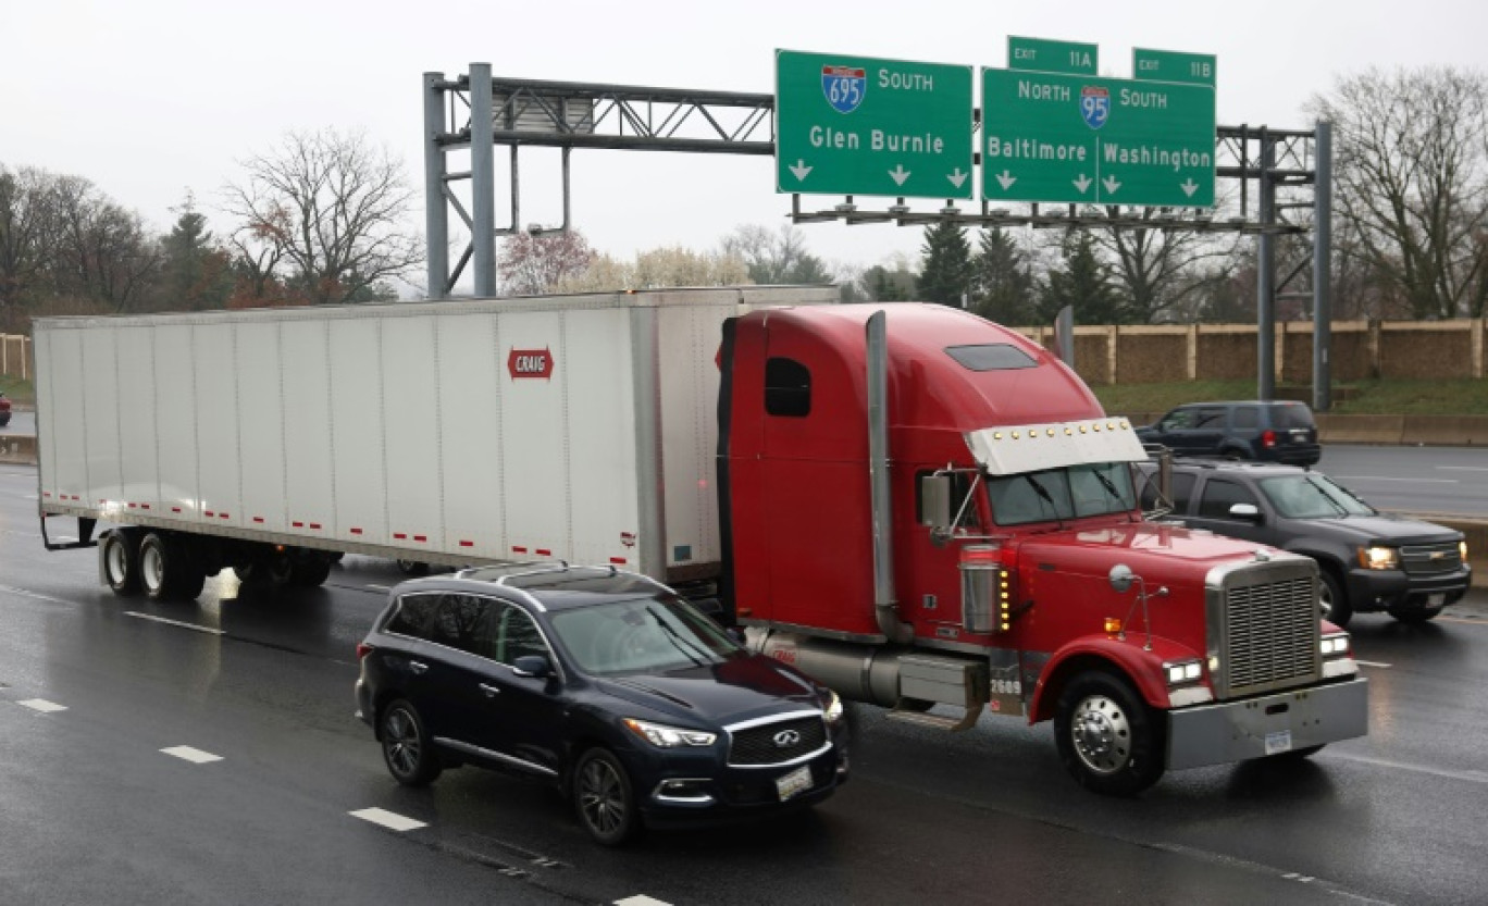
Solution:
<svg viewBox="0 0 1488 906">
<path fill-rule="evenodd" d="M 1071 677 L 1088 669 L 1106 669 L 1126 677 L 1149 707 L 1167 711 L 1168 680 L 1162 672 L 1164 662 L 1202 658 L 1193 649 L 1167 638 L 1153 637 L 1150 652 L 1144 649 L 1146 644 L 1144 632 L 1131 632 L 1125 640 L 1115 635 L 1076 638 L 1056 650 L 1039 674 L 1039 684 L 1028 708 L 1028 723 L 1051 720 L 1059 701 L 1059 690 Z"/>
</svg>

